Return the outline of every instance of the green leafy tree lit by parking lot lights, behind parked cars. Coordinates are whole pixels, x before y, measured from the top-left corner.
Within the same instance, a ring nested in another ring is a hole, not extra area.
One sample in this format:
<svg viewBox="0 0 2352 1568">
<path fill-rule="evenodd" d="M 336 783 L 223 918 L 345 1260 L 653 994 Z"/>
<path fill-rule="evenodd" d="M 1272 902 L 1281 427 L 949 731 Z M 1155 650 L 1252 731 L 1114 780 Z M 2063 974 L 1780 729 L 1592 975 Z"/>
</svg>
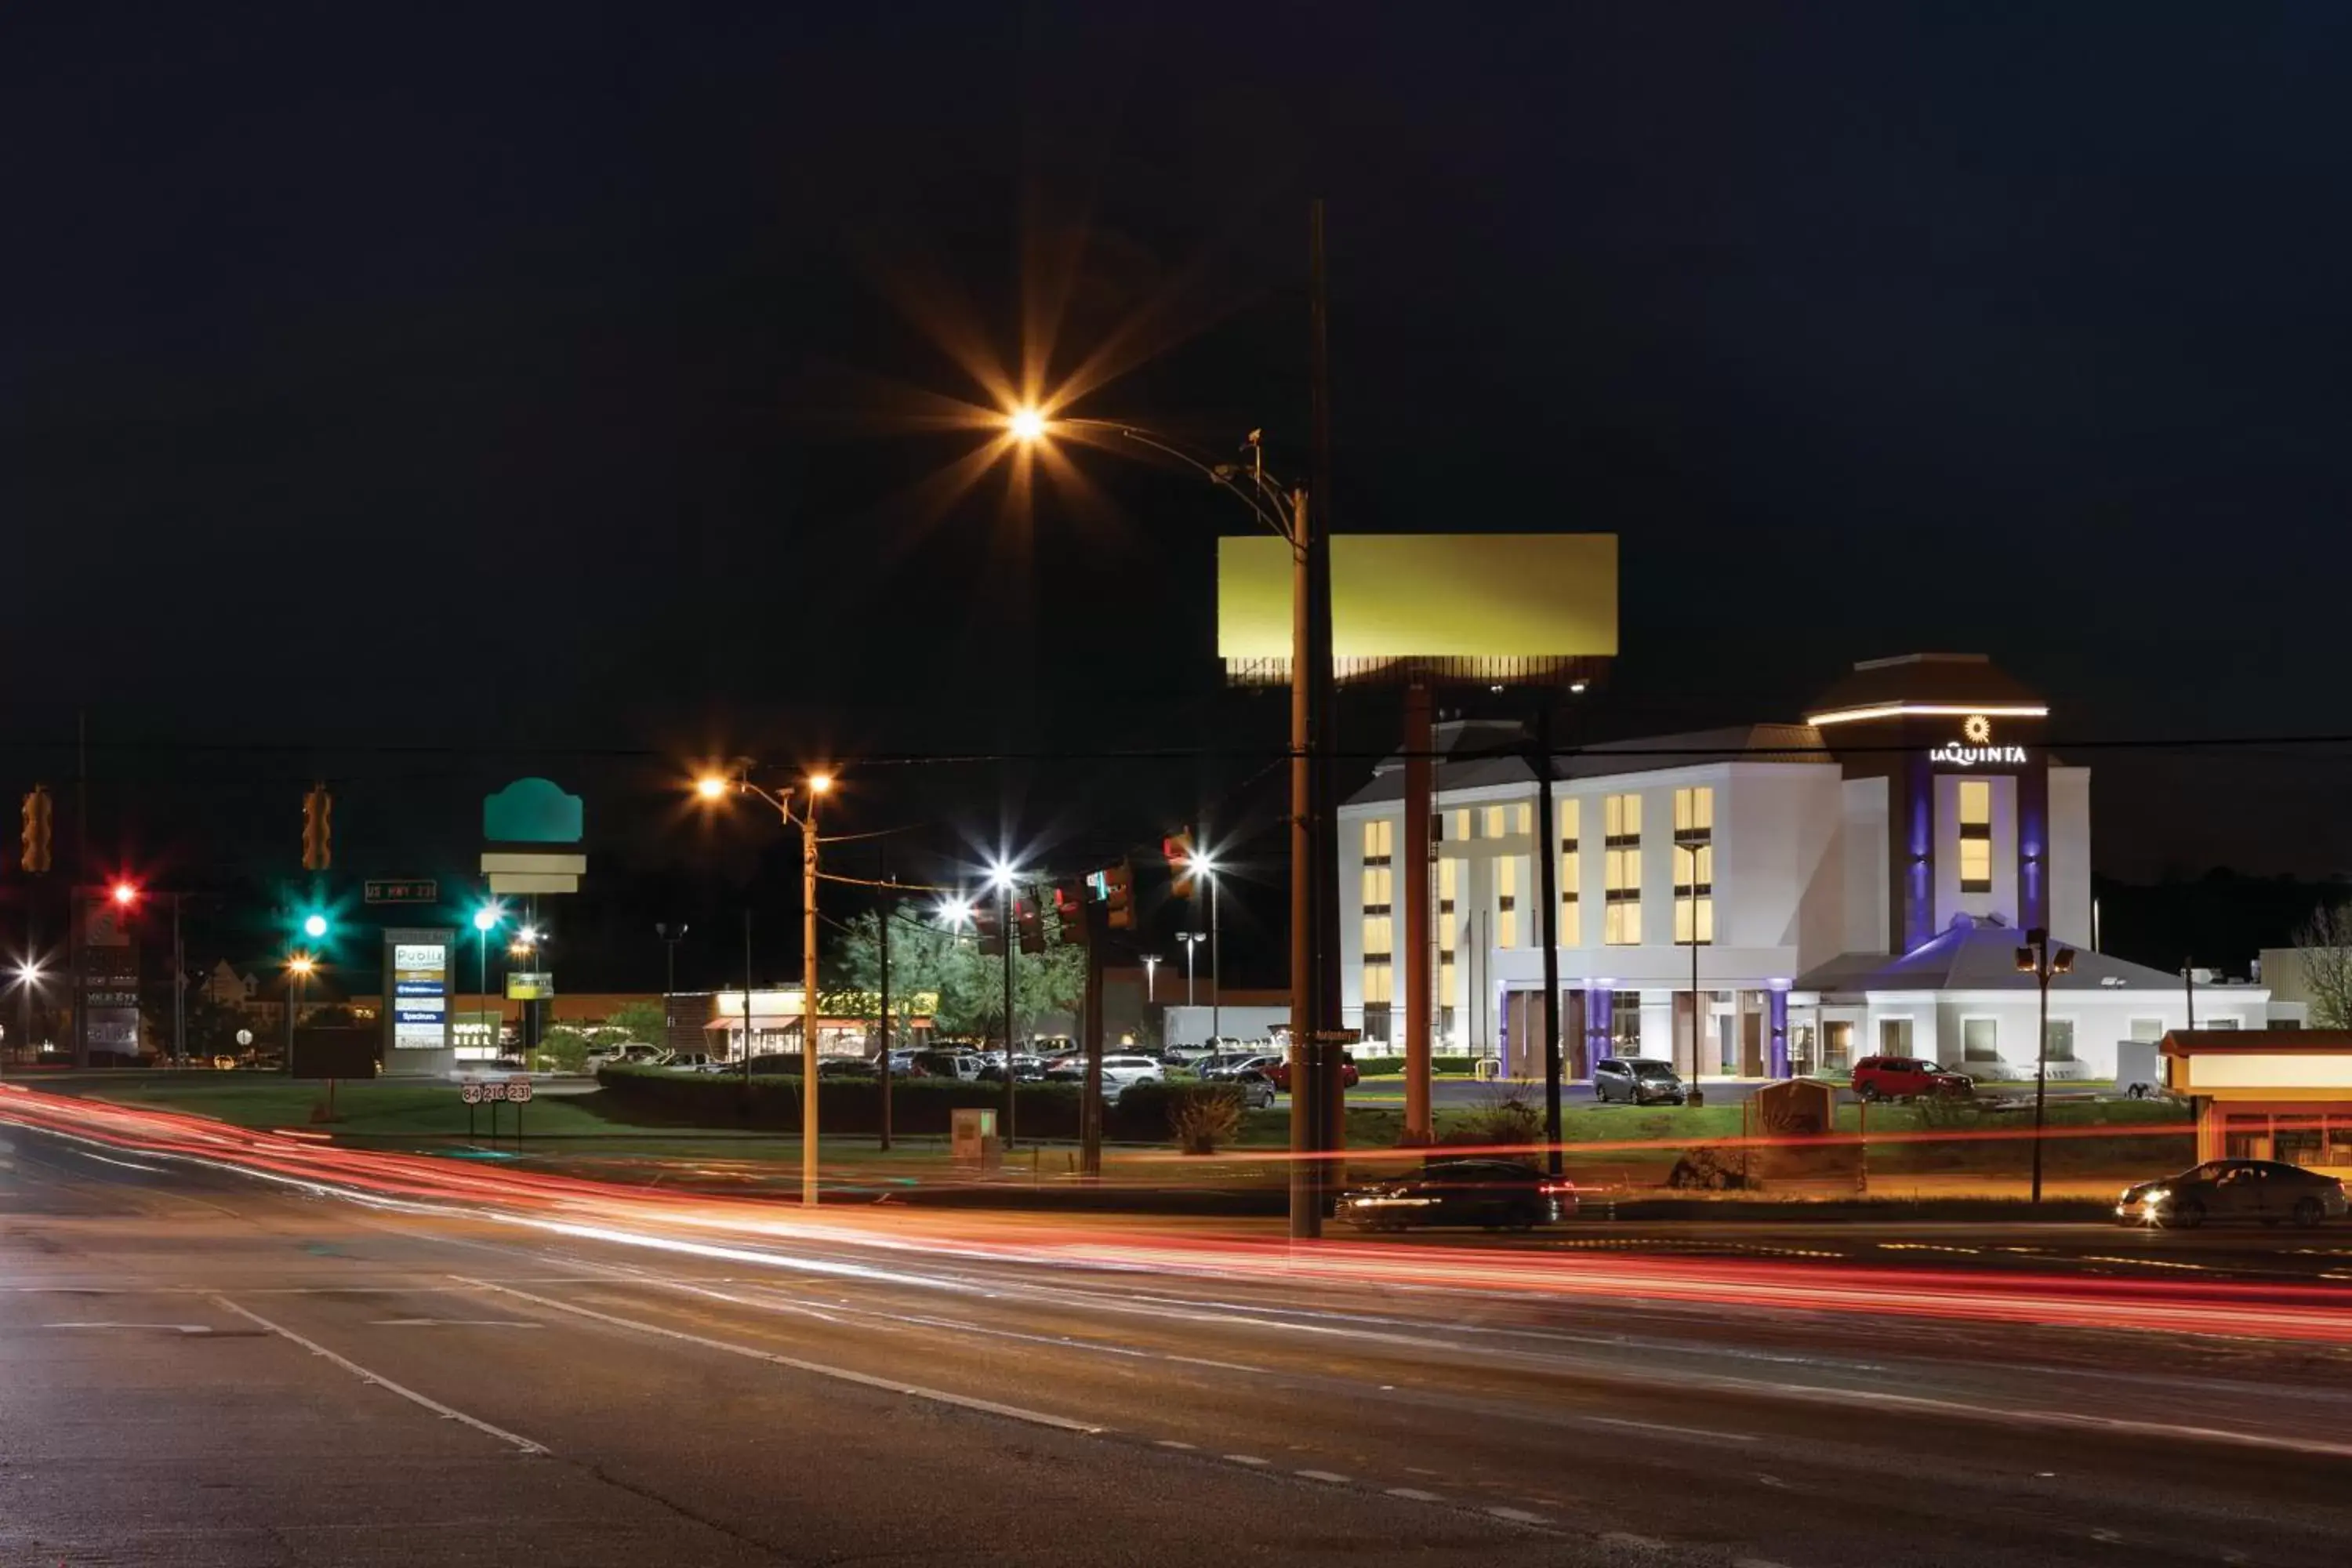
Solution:
<svg viewBox="0 0 2352 1568">
<path fill-rule="evenodd" d="M 826 954 L 826 985 L 880 994 L 882 914 L 868 910 L 847 922 Z M 889 914 L 889 1004 L 906 1013 L 920 992 L 936 992 L 931 1023 L 941 1034 L 993 1034 L 1004 1027 L 1004 959 L 981 957 L 971 933 Z M 1063 947 L 1047 936 L 1042 954 L 1018 954 L 1014 966 L 1014 1030 L 1035 1027 L 1047 1013 L 1070 1013 L 1087 992 L 1084 947 Z"/>
</svg>

